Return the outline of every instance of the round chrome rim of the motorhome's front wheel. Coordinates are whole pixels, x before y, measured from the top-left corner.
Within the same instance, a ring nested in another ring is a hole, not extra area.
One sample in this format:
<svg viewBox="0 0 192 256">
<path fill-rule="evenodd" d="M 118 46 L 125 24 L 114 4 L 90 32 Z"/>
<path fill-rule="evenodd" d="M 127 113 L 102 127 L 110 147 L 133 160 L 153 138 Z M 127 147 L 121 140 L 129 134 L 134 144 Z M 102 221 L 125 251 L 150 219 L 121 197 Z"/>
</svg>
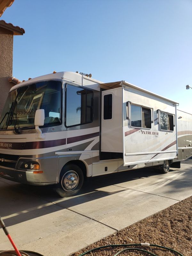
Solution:
<svg viewBox="0 0 192 256">
<path fill-rule="evenodd" d="M 79 184 L 79 176 L 75 171 L 66 172 L 61 179 L 61 186 L 65 191 L 74 190 Z"/>
</svg>

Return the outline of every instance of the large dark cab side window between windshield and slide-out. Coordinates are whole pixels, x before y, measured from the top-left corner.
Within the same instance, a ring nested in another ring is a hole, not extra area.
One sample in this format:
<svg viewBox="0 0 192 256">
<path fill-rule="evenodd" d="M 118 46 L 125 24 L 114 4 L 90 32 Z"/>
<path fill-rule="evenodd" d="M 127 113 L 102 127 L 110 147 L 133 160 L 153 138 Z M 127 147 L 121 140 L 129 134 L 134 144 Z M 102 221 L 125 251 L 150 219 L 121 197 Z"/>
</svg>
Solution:
<svg viewBox="0 0 192 256">
<path fill-rule="evenodd" d="M 87 124 L 93 121 L 93 92 L 67 84 L 66 126 Z"/>
</svg>

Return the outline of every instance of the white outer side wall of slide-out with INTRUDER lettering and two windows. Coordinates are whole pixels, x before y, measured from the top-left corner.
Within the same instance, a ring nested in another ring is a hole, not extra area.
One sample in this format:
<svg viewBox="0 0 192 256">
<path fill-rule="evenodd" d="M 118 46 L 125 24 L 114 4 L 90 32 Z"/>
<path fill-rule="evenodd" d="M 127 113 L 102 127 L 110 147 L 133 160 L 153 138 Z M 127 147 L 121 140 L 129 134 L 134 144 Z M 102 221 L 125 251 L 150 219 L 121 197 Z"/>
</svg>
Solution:
<svg viewBox="0 0 192 256">
<path fill-rule="evenodd" d="M 123 100 L 124 166 L 177 158 L 175 104 L 131 86 Z"/>
</svg>

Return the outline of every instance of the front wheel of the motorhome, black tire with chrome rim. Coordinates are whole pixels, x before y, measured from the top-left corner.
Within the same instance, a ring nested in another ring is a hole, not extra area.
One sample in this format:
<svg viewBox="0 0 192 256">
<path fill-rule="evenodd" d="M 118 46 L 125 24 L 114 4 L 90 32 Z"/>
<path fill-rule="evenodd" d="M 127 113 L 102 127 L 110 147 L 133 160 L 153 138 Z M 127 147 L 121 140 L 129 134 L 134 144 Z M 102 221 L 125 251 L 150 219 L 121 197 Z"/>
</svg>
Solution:
<svg viewBox="0 0 192 256">
<path fill-rule="evenodd" d="M 69 164 L 62 168 L 55 190 L 61 197 L 75 196 L 81 189 L 83 181 L 84 175 L 81 168 L 75 164 Z"/>
</svg>

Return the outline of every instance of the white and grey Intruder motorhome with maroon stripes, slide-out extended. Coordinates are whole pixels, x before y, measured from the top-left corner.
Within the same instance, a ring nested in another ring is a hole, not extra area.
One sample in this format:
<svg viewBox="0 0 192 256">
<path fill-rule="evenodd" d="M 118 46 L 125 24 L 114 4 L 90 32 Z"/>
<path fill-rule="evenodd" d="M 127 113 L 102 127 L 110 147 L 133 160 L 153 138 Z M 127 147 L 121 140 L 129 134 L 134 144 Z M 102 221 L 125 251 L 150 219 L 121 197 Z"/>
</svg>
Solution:
<svg viewBox="0 0 192 256">
<path fill-rule="evenodd" d="M 0 177 L 73 196 L 86 177 L 192 155 L 192 116 L 125 81 L 53 72 L 12 87 L 0 118 Z"/>
</svg>

